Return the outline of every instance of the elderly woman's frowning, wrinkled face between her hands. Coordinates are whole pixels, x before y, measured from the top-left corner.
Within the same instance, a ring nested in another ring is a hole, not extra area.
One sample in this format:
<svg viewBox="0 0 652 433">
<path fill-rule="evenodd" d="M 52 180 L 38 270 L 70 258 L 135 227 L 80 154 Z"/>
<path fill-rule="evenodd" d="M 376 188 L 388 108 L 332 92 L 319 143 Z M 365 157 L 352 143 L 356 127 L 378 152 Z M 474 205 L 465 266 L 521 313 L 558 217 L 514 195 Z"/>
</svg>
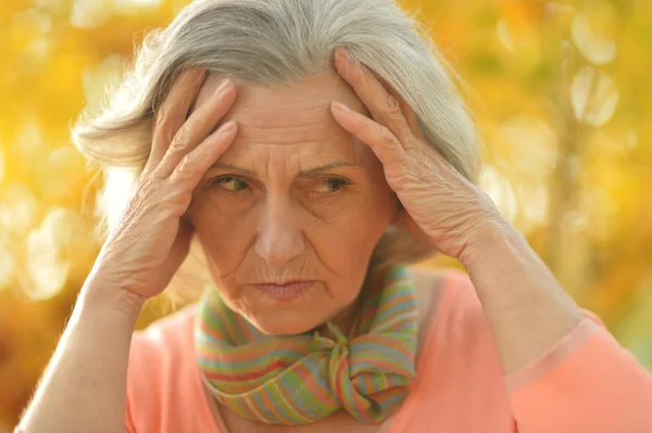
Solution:
<svg viewBox="0 0 652 433">
<path fill-rule="evenodd" d="M 334 100 L 368 114 L 335 71 L 276 91 L 239 86 L 223 120 L 238 136 L 188 211 L 222 297 L 268 334 L 344 320 L 397 215 L 381 164 L 335 122 Z M 278 285 L 288 281 L 306 282 Z"/>
</svg>

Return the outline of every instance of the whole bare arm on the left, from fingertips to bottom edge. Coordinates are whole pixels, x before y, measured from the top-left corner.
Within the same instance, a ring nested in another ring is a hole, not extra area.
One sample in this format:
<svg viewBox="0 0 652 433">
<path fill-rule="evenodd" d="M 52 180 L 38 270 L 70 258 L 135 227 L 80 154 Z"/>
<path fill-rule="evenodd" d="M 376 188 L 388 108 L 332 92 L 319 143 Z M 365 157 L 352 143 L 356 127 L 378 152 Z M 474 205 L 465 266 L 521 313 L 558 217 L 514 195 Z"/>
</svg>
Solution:
<svg viewBox="0 0 652 433">
<path fill-rule="evenodd" d="M 233 120 L 216 125 L 236 101 L 229 79 L 188 115 L 204 78 L 205 71 L 183 72 L 158 110 L 148 162 L 24 415 L 20 428 L 27 433 L 125 429 L 136 319 L 145 300 L 160 294 L 186 258 L 192 192 L 238 131 Z"/>
</svg>

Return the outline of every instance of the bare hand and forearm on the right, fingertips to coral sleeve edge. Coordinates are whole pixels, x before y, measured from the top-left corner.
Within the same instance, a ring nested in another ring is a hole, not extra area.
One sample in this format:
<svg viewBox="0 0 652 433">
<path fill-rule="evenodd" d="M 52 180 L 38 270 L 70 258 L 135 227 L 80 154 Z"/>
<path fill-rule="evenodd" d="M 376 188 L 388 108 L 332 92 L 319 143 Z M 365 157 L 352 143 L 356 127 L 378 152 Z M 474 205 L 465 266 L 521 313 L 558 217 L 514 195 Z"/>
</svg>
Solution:
<svg viewBox="0 0 652 433">
<path fill-rule="evenodd" d="M 464 265 L 505 374 L 540 359 L 582 320 L 581 311 L 489 196 L 427 143 L 405 101 L 341 54 L 336 67 L 374 119 L 334 104 L 336 120 L 378 156 L 411 224 Z"/>
</svg>

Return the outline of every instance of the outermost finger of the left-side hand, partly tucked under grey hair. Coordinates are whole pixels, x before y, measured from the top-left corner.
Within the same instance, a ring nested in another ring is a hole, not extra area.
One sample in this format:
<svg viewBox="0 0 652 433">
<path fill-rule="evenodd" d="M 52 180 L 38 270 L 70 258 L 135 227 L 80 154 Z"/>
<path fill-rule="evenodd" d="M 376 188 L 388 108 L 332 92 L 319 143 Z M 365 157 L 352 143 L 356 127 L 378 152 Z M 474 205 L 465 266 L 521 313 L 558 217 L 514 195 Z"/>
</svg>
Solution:
<svg viewBox="0 0 652 433">
<path fill-rule="evenodd" d="M 147 171 L 153 170 L 163 160 L 170 142 L 186 122 L 188 110 L 197 98 L 204 78 L 205 71 L 188 69 L 172 85 L 158 113 L 154 114 L 152 149 L 146 164 Z"/>
</svg>

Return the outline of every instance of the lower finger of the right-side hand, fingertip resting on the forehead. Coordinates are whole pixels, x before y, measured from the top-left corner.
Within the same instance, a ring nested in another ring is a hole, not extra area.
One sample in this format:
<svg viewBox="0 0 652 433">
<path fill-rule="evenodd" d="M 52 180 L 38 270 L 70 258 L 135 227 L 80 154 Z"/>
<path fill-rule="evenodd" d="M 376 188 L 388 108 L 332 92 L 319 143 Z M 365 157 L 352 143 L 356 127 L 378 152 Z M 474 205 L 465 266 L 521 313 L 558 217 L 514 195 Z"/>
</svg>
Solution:
<svg viewBox="0 0 652 433">
<path fill-rule="evenodd" d="M 405 150 L 386 126 L 349 109 L 341 102 L 334 102 L 330 111 L 337 123 L 368 145 L 383 165 L 391 167 L 404 160 Z"/>
</svg>

